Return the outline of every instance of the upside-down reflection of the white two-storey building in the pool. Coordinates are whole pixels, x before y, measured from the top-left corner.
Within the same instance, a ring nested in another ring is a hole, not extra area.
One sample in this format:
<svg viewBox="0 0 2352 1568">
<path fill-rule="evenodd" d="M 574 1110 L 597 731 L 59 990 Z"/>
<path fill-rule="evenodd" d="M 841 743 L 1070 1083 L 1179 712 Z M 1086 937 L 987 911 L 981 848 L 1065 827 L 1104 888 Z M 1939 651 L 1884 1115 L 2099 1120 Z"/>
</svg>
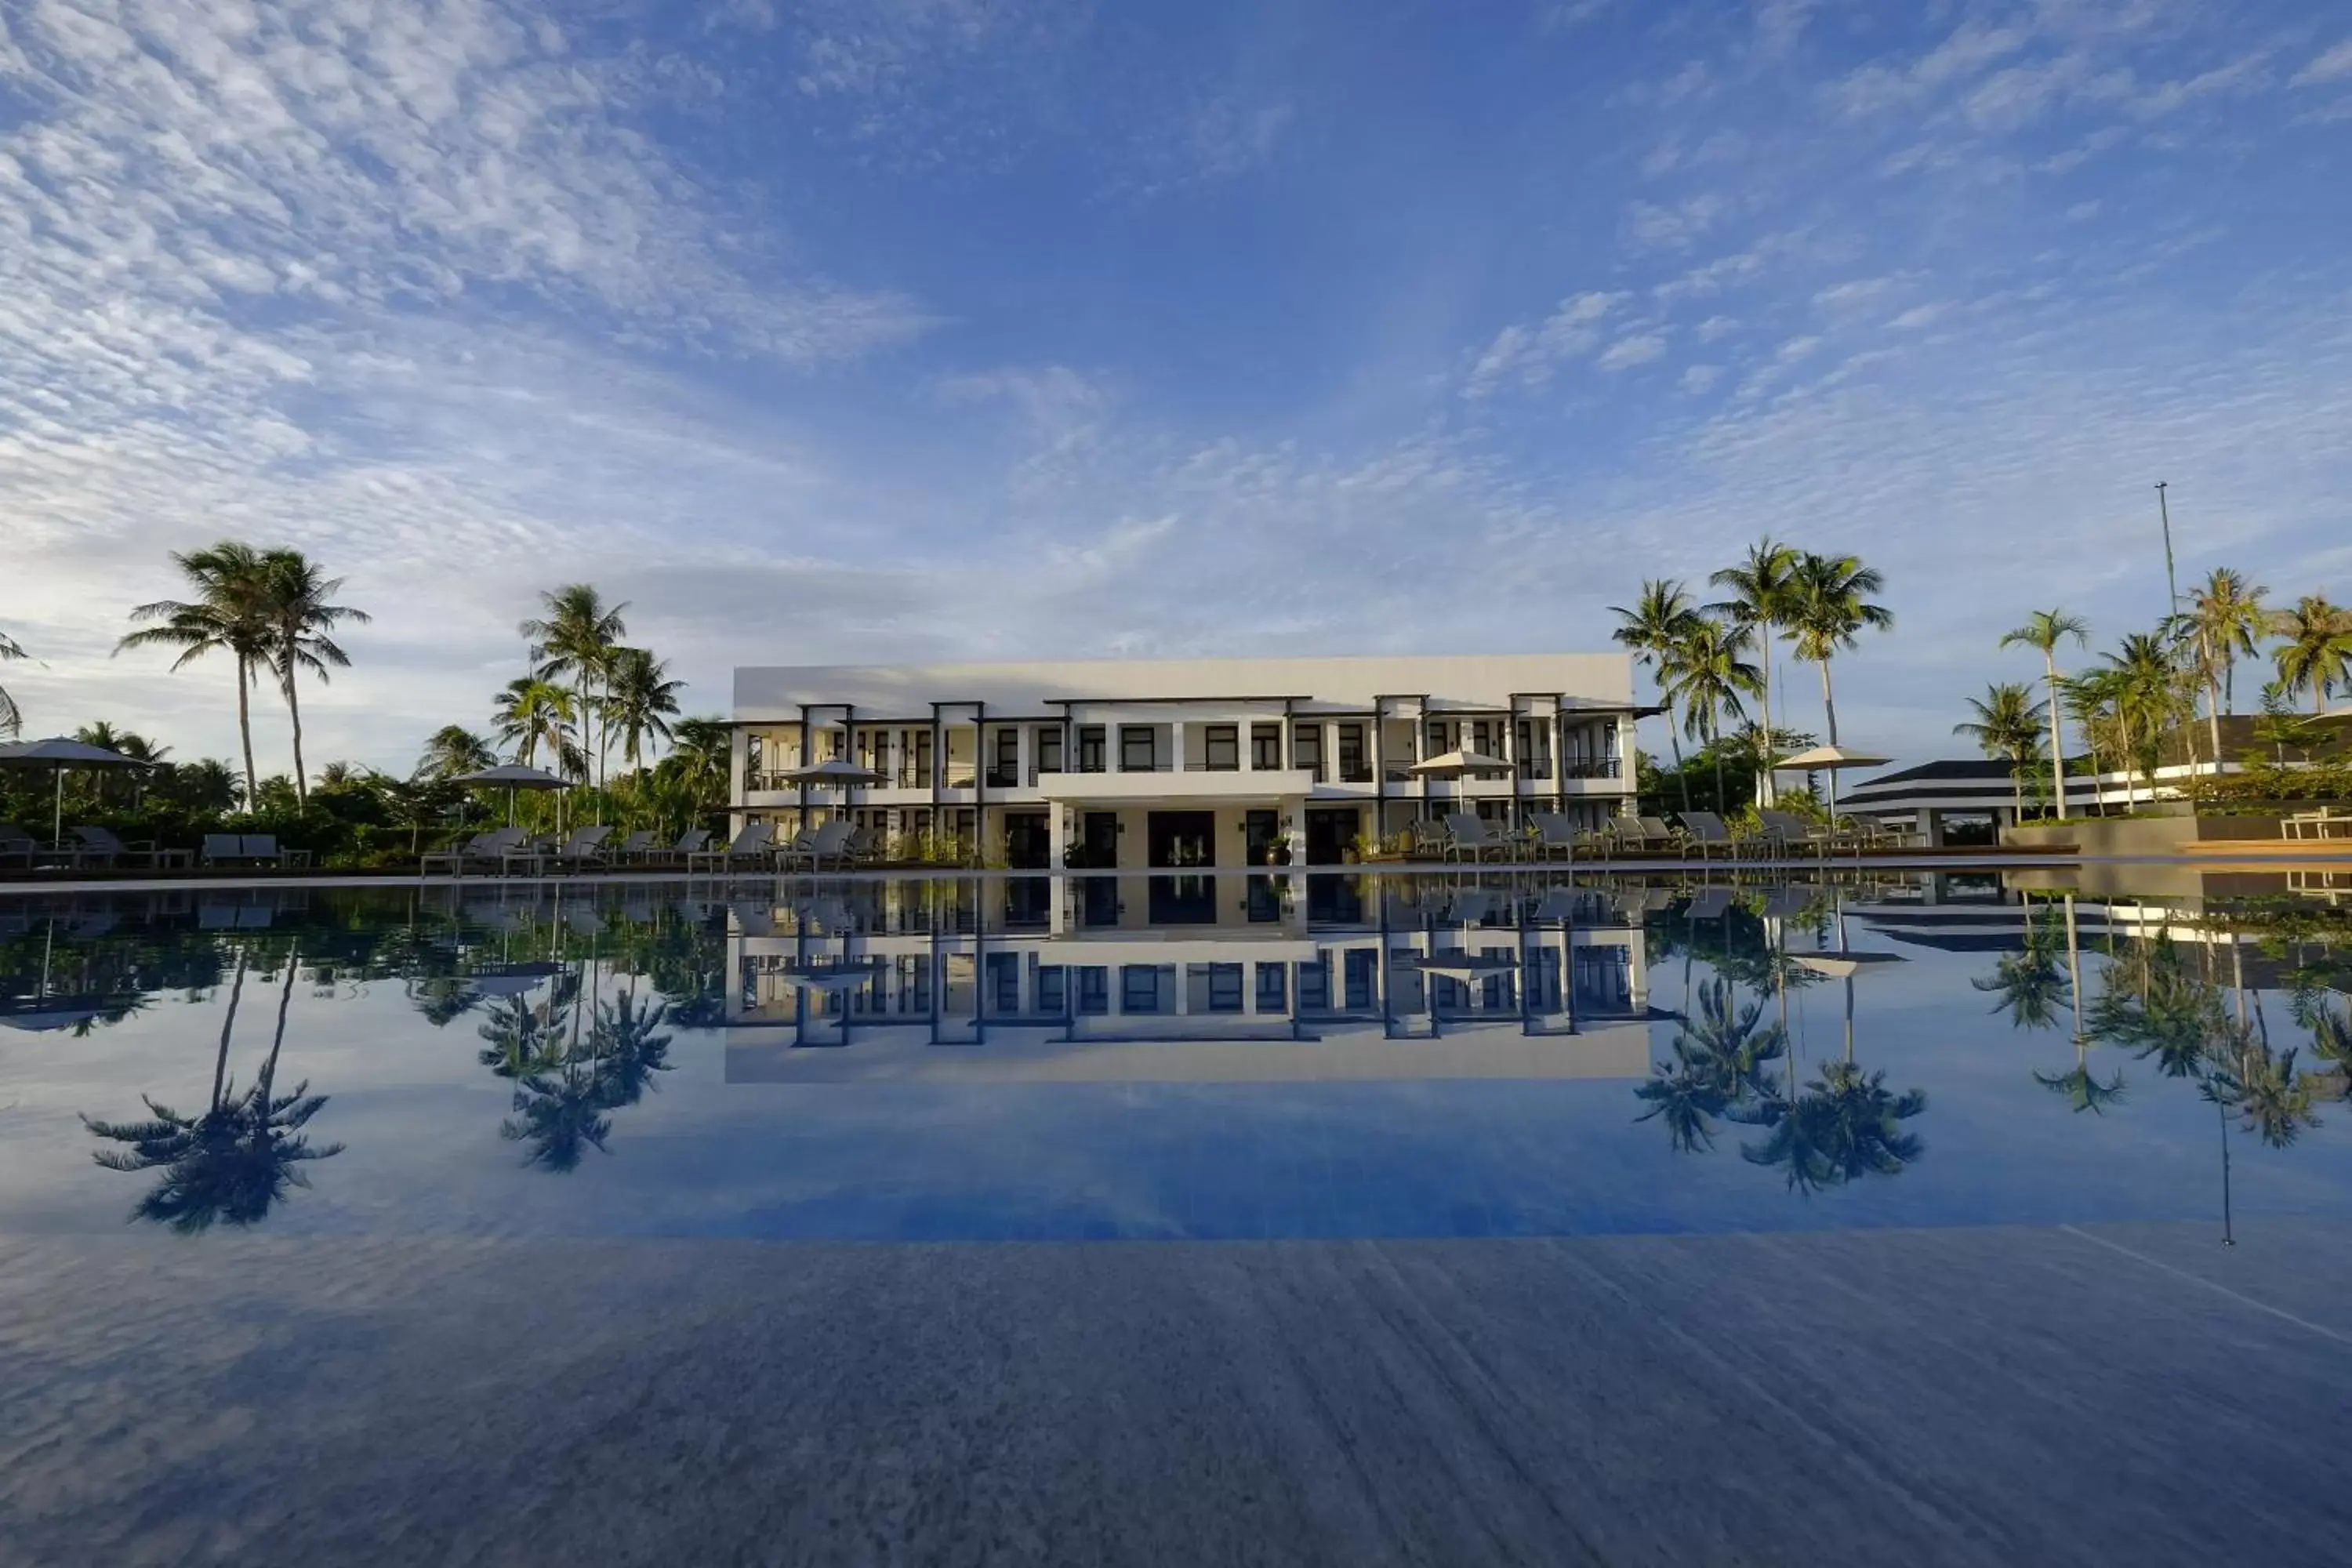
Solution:
<svg viewBox="0 0 2352 1568">
<path fill-rule="evenodd" d="M 1529 877 L 842 882 L 736 907 L 727 1072 L 1639 1077 L 1639 905 Z M 1381 1041 L 1397 1048 L 1364 1053 Z M 811 1046 L 849 1051 L 793 1060 Z M 990 1063 L 953 1067 L 934 1046 Z"/>
</svg>

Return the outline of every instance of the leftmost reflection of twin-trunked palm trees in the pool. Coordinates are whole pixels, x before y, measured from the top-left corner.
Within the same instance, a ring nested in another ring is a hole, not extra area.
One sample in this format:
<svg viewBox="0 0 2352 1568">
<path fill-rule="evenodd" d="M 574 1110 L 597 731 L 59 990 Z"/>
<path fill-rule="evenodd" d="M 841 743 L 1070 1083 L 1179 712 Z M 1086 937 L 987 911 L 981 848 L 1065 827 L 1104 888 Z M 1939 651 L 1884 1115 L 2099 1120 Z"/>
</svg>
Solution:
<svg viewBox="0 0 2352 1568">
<path fill-rule="evenodd" d="M 287 952 L 285 987 L 278 994 L 278 1030 L 261 1077 L 245 1093 L 228 1079 L 228 1041 L 238 1025 L 238 1001 L 245 992 L 245 952 L 238 952 L 235 980 L 221 1020 L 221 1048 L 212 1065 L 212 1098 L 195 1117 L 183 1117 L 146 1098 L 151 1121 L 92 1121 L 82 1126 L 96 1138 L 129 1145 L 96 1150 L 108 1171 L 162 1168 L 162 1180 L 132 1208 L 136 1220 L 155 1220 L 181 1234 L 209 1229 L 216 1220 L 256 1225 L 287 1197 L 289 1187 L 308 1187 L 303 1161 L 329 1159 L 343 1145 L 313 1147 L 303 1128 L 327 1105 L 327 1095 L 308 1093 L 308 1081 L 292 1093 L 278 1093 L 278 1058 L 285 1051 L 287 1004 L 294 994 L 299 954 Z"/>
</svg>

